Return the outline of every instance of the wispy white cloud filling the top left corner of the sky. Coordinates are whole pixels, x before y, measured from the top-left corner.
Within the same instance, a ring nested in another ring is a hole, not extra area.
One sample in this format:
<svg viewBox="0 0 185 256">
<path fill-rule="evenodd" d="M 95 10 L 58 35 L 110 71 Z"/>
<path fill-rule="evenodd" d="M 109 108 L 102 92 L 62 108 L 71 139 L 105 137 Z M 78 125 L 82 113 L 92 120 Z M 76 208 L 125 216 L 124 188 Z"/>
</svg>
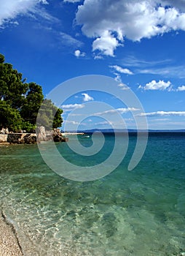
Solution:
<svg viewBox="0 0 185 256">
<path fill-rule="evenodd" d="M 12 19 L 15 19 L 18 15 L 25 15 L 28 13 L 37 12 L 41 15 L 39 10 L 39 4 L 48 4 L 46 0 L 6 0 L 0 1 L 0 26 L 4 23 L 9 23 Z M 43 13 L 42 13 L 43 15 Z M 46 18 L 50 18 L 47 15 Z"/>
</svg>

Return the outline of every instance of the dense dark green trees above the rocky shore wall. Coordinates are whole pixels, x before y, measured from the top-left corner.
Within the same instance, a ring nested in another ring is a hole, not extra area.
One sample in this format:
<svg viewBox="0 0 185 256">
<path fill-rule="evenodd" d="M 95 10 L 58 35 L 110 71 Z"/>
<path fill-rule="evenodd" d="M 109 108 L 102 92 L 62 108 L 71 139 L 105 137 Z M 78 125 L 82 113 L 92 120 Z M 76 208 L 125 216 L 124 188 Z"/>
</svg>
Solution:
<svg viewBox="0 0 185 256">
<path fill-rule="evenodd" d="M 12 64 L 4 63 L 4 56 L 0 54 L 0 129 L 33 132 L 38 112 L 37 124 L 39 120 L 39 125 L 46 129 L 61 127 L 63 110 L 44 99 L 41 86 L 25 83 L 22 74 L 13 69 Z"/>
</svg>

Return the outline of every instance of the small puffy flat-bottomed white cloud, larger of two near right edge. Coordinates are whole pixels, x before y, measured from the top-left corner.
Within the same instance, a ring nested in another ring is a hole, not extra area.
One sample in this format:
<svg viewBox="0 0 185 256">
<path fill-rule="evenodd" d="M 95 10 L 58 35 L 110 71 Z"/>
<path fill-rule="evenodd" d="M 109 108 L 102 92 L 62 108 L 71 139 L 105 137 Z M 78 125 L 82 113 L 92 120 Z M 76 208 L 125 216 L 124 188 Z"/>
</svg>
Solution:
<svg viewBox="0 0 185 256">
<path fill-rule="evenodd" d="M 163 80 L 159 80 L 157 82 L 156 80 L 152 80 L 150 83 L 146 83 L 146 86 L 139 86 L 139 89 L 144 89 L 144 90 L 160 90 L 160 91 L 165 91 L 168 89 L 168 91 L 171 90 L 171 83 L 170 81 L 165 82 Z"/>
</svg>

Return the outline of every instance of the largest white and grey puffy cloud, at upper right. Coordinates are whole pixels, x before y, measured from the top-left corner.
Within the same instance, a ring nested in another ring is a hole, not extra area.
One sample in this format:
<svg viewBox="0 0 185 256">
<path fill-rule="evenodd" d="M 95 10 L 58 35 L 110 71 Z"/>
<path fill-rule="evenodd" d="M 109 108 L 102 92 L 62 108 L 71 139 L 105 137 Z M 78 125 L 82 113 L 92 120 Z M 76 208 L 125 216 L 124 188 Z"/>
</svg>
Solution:
<svg viewBox="0 0 185 256">
<path fill-rule="evenodd" d="M 92 50 L 114 56 L 124 37 L 140 41 L 185 30 L 184 0 L 84 0 L 76 12 L 76 23 L 87 37 L 94 38 Z"/>
</svg>

